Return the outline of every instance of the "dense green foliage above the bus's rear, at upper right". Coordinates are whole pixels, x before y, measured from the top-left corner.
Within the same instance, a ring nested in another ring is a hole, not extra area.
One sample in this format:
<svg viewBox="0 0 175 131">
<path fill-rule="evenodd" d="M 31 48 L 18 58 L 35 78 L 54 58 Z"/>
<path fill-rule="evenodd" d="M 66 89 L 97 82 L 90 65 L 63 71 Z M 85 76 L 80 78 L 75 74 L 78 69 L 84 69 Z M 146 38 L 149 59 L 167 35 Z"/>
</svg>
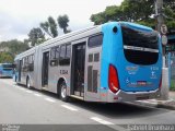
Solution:
<svg viewBox="0 0 175 131">
<path fill-rule="evenodd" d="M 120 5 L 110 5 L 104 12 L 92 14 L 95 25 L 108 21 L 128 21 L 155 26 L 154 0 L 124 0 Z M 164 16 L 168 27 L 175 27 L 175 0 L 164 0 Z"/>
</svg>

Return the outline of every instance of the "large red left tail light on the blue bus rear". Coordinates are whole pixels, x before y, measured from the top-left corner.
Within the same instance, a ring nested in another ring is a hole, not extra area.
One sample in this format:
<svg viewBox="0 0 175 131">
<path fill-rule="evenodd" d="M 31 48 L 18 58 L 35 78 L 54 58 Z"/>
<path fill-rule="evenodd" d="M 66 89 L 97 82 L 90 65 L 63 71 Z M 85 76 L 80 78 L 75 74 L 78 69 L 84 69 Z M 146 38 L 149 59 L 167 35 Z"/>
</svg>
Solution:
<svg viewBox="0 0 175 131">
<path fill-rule="evenodd" d="M 108 86 L 113 93 L 117 93 L 119 91 L 118 72 L 116 68 L 112 64 L 109 64 L 108 71 Z"/>
</svg>

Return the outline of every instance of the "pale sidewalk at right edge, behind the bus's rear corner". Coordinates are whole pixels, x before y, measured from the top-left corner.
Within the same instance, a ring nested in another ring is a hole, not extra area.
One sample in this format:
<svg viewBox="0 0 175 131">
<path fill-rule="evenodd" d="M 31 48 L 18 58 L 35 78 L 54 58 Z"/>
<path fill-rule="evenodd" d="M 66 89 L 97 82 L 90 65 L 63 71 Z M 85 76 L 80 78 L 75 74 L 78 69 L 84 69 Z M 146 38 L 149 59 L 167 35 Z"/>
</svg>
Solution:
<svg viewBox="0 0 175 131">
<path fill-rule="evenodd" d="M 158 100 L 158 99 L 148 99 L 148 100 L 138 100 L 137 103 L 144 106 L 153 106 L 158 108 L 166 108 L 175 110 L 175 92 L 170 92 L 168 100 Z"/>
</svg>

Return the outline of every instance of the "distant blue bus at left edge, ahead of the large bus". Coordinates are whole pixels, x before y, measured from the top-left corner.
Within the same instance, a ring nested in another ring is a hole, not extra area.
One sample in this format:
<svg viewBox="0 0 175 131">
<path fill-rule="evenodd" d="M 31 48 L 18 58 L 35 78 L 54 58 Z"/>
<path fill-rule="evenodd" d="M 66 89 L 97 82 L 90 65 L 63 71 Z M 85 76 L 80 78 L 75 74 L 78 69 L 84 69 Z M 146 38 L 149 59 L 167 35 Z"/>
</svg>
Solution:
<svg viewBox="0 0 175 131">
<path fill-rule="evenodd" d="M 14 64 L 0 63 L 0 78 L 13 78 Z"/>
</svg>

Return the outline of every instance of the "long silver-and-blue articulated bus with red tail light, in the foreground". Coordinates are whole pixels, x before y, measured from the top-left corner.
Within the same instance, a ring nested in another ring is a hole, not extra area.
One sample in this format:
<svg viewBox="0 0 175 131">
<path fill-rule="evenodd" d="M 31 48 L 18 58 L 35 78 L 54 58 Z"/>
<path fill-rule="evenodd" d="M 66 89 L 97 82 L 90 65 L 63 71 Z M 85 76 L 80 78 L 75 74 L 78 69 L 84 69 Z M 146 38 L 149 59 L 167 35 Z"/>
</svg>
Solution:
<svg viewBox="0 0 175 131">
<path fill-rule="evenodd" d="M 61 35 L 15 58 L 16 83 L 62 100 L 130 102 L 160 97 L 162 47 L 150 27 L 109 22 Z"/>
</svg>

